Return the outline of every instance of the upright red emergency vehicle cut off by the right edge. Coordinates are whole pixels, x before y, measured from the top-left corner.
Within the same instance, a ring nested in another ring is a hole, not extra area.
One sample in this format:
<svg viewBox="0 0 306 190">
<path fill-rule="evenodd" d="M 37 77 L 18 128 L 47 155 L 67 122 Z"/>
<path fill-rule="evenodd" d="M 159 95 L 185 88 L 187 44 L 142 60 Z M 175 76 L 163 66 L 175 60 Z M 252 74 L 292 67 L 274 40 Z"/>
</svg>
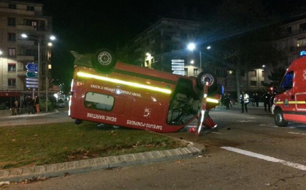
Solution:
<svg viewBox="0 0 306 190">
<path fill-rule="evenodd" d="M 274 98 L 272 112 L 275 124 L 287 126 L 288 122 L 306 124 L 306 57 L 293 61 Z"/>
</svg>

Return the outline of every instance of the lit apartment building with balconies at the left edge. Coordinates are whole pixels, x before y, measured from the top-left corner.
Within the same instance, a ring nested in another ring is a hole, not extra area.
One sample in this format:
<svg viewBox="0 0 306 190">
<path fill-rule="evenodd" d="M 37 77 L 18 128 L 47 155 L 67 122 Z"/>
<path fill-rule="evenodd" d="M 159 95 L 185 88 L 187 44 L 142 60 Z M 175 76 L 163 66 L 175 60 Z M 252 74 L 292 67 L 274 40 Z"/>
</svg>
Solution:
<svg viewBox="0 0 306 190">
<path fill-rule="evenodd" d="M 39 68 L 35 93 L 46 90 L 52 68 L 51 34 L 52 18 L 43 14 L 42 4 L 0 0 L 0 99 L 32 94 L 33 88 L 27 87 L 25 80 L 28 63 Z"/>
</svg>

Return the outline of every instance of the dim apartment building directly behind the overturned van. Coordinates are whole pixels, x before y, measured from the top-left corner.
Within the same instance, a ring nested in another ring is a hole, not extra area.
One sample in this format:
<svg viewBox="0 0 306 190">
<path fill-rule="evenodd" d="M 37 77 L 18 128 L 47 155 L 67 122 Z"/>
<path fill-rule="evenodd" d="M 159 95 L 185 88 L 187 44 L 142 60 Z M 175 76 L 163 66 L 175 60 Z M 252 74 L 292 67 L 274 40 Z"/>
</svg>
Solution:
<svg viewBox="0 0 306 190">
<path fill-rule="evenodd" d="M 139 66 L 172 72 L 171 60 L 184 60 L 185 73 L 199 72 L 198 53 L 187 50 L 187 44 L 196 39 L 200 23 L 190 20 L 162 18 L 126 43 L 119 51 L 121 61 Z M 190 60 L 194 58 L 194 64 Z"/>
</svg>

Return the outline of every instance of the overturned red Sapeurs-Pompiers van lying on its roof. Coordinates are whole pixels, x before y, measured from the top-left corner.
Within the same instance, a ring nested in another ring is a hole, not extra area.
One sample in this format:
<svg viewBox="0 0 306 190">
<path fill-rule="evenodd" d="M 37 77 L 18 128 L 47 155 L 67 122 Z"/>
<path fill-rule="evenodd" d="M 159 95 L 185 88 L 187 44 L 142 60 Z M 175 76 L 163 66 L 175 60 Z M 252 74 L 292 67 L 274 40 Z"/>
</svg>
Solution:
<svg viewBox="0 0 306 190">
<path fill-rule="evenodd" d="M 96 57 L 114 61 L 107 53 L 99 51 Z M 181 130 L 197 116 L 200 91 L 195 77 L 116 61 L 110 68 L 98 68 L 91 61 L 93 55 L 73 54 L 69 116 L 76 123 L 91 121 L 165 133 Z M 208 99 L 207 109 L 219 104 L 220 96 L 214 97 Z"/>
</svg>

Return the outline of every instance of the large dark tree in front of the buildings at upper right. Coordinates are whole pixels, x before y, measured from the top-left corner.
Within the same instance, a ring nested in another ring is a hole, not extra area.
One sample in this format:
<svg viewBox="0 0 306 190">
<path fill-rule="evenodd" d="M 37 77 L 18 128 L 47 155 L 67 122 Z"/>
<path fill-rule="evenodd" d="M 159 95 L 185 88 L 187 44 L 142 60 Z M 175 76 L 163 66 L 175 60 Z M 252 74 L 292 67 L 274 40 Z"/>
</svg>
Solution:
<svg viewBox="0 0 306 190">
<path fill-rule="evenodd" d="M 276 65 L 282 59 L 273 44 L 275 17 L 268 15 L 261 1 L 225 0 L 210 21 L 216 61 L 235 72 L 237 98 L 241 69 Z"/>
</svg>

